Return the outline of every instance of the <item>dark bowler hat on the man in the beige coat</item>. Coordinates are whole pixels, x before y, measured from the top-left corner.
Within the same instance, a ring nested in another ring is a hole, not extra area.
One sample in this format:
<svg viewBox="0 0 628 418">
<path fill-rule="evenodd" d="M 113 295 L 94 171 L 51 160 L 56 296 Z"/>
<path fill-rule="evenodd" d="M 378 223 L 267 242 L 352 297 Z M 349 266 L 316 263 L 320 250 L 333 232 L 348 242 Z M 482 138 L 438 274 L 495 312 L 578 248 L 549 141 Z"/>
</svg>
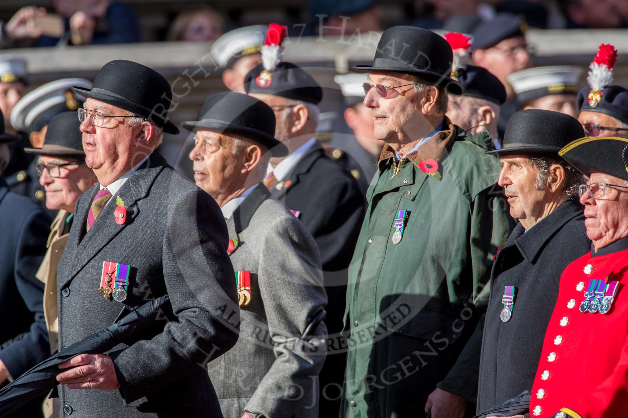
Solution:
<svg viewBox="0 0 628 418">
<path fill-rule="evenodd" d="M 63 112 L 53 117 L 48 123 L 42 147 L 24 148 L 24 152 L 35 155 L 84 158 L 83 133 L 80 132 L 77 112 Z"/>
</svg>

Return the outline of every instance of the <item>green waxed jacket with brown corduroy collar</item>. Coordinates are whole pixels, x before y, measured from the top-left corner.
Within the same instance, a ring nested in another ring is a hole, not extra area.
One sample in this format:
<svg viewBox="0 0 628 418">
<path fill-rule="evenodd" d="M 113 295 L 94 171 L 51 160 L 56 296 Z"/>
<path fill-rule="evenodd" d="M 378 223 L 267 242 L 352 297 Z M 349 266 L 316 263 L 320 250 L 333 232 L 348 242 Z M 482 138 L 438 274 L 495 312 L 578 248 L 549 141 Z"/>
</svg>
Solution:
<svg viewBox="0 0 628 418">
<path fill-rule="evenodd" d="M 512 221 L 496 185 L 499 160 L 484 154 L 490 135 L 465 137 L 447 118 L 443 127 L 392 178 L 386 146 L 367 191 L 349 266 L 341 417 L 424 417 L 437 385 L 475 402 L 477 364 L 452 367 L 488 299 L 490 266 Z M 420 169 L 428 159 L 438 162 L 435 175 Z M 393 244 L 400 209 L 409 216 Z M 475 406 L 468 410 L 473 416 Z"/>
</svg>

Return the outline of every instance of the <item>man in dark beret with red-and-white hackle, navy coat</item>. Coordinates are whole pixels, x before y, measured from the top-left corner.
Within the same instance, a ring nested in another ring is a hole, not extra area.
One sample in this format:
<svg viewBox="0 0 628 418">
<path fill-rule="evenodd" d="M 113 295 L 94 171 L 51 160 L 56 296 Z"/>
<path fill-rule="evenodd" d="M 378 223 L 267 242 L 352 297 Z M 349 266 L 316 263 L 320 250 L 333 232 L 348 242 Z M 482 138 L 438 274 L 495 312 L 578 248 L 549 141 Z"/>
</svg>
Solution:
<svg viewBox="0 0 628 418">
<path fill-rule="evenodd" d="M 268 73 L 270 78 L 262 77 Z M 271 159 L 264 184 L 295 212 L 321 254 L 328 298 L 326 323 L 335 337 L 328 341 L 320 374 L 320 416 L 335 415 L 345 367 L 338 333 L 344 317 L 347 268 L 364 218 L 364 196 L 357 180 L 329 159 L 315 139 L 323 89 L 306 71 L 287 62 L 280 62 L 272 72 L 258 65 L 247 74 L 245 89 L 273 109 L 275 137 L 289 152 Z"/>
</svg>

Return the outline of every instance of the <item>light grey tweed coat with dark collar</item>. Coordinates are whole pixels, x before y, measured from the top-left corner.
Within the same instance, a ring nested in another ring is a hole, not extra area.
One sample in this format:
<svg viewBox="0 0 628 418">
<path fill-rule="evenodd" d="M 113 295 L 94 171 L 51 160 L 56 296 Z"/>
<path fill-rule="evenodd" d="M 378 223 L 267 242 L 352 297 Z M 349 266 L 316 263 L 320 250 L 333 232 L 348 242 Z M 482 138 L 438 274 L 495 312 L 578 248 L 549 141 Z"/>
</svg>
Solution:
<svg viewBox="0 0 628 418">
<path fill-rule="evenodd" d="M 327 303 L 314 239 L 263 184 L 227 220 L 237 241 L 231 262 L 251 273 L 236 346 L 209 363 L 225 418 L 247 410 L 266 418 L 317 418 L 318 373 L 325 361 L 322 322 L 301 340 Z"/>
</svg>

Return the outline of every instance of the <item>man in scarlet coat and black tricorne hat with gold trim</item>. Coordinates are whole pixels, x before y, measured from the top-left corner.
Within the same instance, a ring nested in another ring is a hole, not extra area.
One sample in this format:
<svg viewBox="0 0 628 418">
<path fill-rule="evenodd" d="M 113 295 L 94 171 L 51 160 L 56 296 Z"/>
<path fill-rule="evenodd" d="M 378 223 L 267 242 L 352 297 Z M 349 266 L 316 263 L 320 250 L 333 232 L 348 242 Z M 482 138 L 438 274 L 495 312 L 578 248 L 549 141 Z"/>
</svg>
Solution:
<svg viewBox="0 0 628 418">
<path fill-rule="evenodd" d="M 606 95 L 606 92 L 604 93 Z M 559 155 L 580 187 L 591 251 L 560 278 L 530 402 L 531 416 L 628 416 L 628 139 L 581 138 Z"/>
</svg>

